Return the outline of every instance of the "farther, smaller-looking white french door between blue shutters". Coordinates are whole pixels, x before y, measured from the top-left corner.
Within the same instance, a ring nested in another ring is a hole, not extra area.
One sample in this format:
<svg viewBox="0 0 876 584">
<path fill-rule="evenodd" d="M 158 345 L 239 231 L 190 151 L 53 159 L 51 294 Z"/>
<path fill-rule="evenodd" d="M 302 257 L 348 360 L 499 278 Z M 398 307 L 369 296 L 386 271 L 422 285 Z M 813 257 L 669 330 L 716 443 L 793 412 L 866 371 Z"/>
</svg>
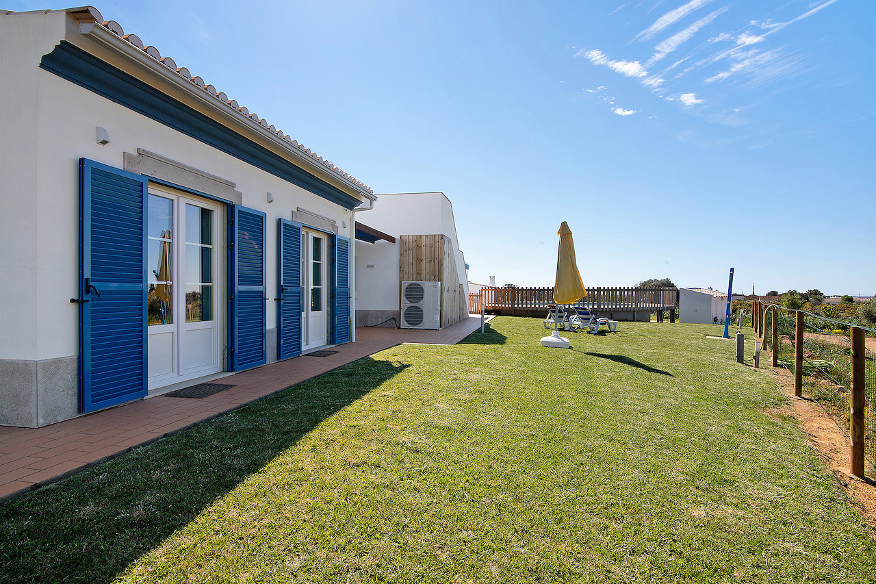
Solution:
<svg viewBox="0 0 876 584">
<path fill-rule="evenodd" d="M 301 349 L 307 351 L 329 342 L 329 236 L 302 229 L 301 250 Z"/>
</svg>

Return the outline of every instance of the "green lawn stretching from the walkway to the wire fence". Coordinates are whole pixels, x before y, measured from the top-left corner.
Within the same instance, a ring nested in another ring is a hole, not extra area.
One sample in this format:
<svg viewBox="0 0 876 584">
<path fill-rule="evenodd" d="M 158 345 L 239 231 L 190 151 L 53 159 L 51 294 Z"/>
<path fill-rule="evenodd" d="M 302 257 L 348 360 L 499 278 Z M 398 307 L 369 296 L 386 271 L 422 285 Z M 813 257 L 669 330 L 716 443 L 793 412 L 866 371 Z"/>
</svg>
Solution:
<svg viewBox="0 0 876 584">
<path fill-rule="evenodd" d="M 719 328 L 394 347 L 0 506 L 0 581 L 872 582 Z"/>
</svg>

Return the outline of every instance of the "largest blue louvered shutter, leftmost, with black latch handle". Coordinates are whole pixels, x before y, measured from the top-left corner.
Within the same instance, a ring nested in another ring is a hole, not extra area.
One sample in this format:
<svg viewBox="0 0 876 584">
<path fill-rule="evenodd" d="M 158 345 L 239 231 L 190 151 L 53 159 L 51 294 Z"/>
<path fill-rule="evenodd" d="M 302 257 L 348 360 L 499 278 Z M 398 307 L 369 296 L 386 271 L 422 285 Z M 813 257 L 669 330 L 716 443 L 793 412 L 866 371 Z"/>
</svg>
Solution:
<svg viewBox="0 0 876 584">
<path fill-rule="evenodd" d="M 148 183 L 84 158 L 79 168 L 79 399 L 88 412 L 146 395 Z"/>
</svg>

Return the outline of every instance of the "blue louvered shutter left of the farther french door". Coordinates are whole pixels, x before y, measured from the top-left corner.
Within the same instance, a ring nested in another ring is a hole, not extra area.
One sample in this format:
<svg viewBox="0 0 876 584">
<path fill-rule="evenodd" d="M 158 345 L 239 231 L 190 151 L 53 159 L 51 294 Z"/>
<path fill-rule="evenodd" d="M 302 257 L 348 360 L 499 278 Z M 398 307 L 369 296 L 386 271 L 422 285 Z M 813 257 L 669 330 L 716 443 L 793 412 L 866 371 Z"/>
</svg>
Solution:
<svg viewBox="0 0 876 584">
<path fill-rule="evenodd" d="M 277 358 L 301 354 L 301 225 L 278 224 Z"/>
</svg>

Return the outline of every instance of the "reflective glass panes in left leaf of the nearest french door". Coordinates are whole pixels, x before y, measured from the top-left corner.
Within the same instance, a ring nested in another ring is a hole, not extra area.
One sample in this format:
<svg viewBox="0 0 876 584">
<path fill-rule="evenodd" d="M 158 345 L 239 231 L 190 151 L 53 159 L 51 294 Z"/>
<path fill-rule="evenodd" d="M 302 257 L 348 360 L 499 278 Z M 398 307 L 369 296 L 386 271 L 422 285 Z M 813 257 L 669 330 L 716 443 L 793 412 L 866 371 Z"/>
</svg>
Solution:
<svg viewBox="0 0 876 584">
<path fill-rule="evenodd" d="M 149 282 L 147 311 L 149 324 L 173 323 L 173 201 L 149 196 L 146 243 Z"/>
</svg>

